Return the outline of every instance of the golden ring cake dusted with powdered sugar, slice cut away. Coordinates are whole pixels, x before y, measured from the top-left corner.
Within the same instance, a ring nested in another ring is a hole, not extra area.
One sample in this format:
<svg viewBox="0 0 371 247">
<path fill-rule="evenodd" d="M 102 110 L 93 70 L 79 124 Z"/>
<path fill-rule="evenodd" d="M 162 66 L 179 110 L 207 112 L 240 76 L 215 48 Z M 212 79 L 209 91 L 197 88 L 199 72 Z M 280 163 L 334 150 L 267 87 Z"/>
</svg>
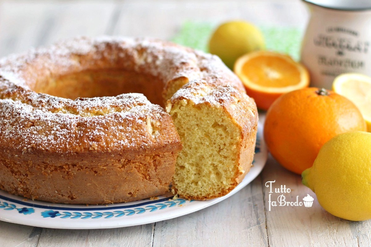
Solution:
<svg viewBox="0 0 371 247">
<path fill-rule="evenodd" d="M 0 60 L 0 188 L 12 194 L 115 203 L 172 181 L 185 198 L 223 196 L 249 171 L 256 130 L 221 60 L 170 42 L 78 38 Z"/>
</svg>

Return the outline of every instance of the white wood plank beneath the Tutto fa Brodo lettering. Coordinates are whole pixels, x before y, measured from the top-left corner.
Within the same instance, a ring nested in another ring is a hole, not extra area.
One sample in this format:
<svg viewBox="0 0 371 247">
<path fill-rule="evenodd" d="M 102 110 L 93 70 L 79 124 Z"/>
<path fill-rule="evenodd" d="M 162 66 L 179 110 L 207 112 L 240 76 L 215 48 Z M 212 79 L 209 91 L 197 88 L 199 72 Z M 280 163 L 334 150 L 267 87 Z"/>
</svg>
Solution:
<svg viewBox="0 0 371 247">
<path fill-rule="evenodd" d="M 318 204 L 315 194 L 302 185 L 301 176 L 293 174 L 280 166 L 272 156 L 268 158 L 262 178 L 263 183 L 275 180 L 274 188 L 285 185 L 286 188 L 291 189 L 290 193 L 272 193 L 271 201 L 277 201 L 280 195 L 285 196 L 286 201 L 289 202 L 296 201 L 296 196 L 299 196 L 299 201 L 302 201 L 306 194 L 314 198 L 313 206 L 310 208 L 304 206 L 277 206 L 271 207 L 271 211 L 269 211 L 269 188 L 263 188 L 270 246 L 356 247 L 358 246 L 357 235 L 359 235 L 361 241 L 368 241 L 369 232 L 365 237 L 351 227 L 352 224 L 355 224 L 355 228 L 357 228 L 362 223 L 352 223 L 327 213 Z M 362 228 L 362 231 L 364 232 L 365 228 Z M 368 242 L 369 244 L 370 242 Z"/>
</svg>

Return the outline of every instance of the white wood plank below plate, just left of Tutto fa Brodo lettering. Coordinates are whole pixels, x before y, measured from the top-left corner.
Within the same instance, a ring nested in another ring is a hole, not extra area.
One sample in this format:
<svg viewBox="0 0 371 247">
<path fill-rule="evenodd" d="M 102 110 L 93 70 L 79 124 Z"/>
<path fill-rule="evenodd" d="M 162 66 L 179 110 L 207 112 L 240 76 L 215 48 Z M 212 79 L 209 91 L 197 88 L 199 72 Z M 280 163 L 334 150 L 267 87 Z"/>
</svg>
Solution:
<svg viewBox="0 0 371 247">
<path fill-rule="evenodd" d="M 153 246 L 268 246 L 262 196 L 257 177 L 220 203 L 157 222 Z"/>
</svg>

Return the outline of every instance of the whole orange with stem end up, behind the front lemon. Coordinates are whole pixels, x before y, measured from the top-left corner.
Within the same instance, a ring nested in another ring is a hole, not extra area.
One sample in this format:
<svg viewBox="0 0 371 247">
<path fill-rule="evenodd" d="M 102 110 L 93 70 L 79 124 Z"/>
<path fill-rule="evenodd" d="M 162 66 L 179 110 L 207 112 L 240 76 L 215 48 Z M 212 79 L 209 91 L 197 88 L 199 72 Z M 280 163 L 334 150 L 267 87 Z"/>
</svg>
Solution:
<svg viewBox="0 0 371 247">
<path fill-rule="evenodd" d="M 366 131 L 358 108 L 345 97 L 315 87 L 280 96 L 269 108 L 264 138 L 273 157 L 301 174 L 312 166 L 320 148 L 337 134 Z"/>
</svg>

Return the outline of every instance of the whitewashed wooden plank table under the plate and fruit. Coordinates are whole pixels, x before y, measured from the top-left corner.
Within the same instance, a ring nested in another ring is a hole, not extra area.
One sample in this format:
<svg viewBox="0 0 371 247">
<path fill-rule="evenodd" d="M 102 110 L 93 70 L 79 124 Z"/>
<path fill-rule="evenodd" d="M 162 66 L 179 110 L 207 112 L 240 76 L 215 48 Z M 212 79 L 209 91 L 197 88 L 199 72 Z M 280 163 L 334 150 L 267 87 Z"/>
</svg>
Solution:
<svg viewBox="0 0 371 247">
<path fill-rule="evenodd" d="M 101 34 L 171 39 L 186 20 L 246 19 L 260 25 L 304 28 L 309 14 L 299 0 L 0 1 L 0 56 L 61 39 Z M 260 118 L 263 120 L 264 114 Z M 306 194 L 313 206 L 269 211 L 269 188 L 285 185 L 286 201 Z M 239 193 L 192 214 L 142 226 L 61 230 L 0 221 L 0 246 L 371 246 L 371 221 L 327 213 L 300 176 L 269 156 L 262 173 Z"/>
</svg>

